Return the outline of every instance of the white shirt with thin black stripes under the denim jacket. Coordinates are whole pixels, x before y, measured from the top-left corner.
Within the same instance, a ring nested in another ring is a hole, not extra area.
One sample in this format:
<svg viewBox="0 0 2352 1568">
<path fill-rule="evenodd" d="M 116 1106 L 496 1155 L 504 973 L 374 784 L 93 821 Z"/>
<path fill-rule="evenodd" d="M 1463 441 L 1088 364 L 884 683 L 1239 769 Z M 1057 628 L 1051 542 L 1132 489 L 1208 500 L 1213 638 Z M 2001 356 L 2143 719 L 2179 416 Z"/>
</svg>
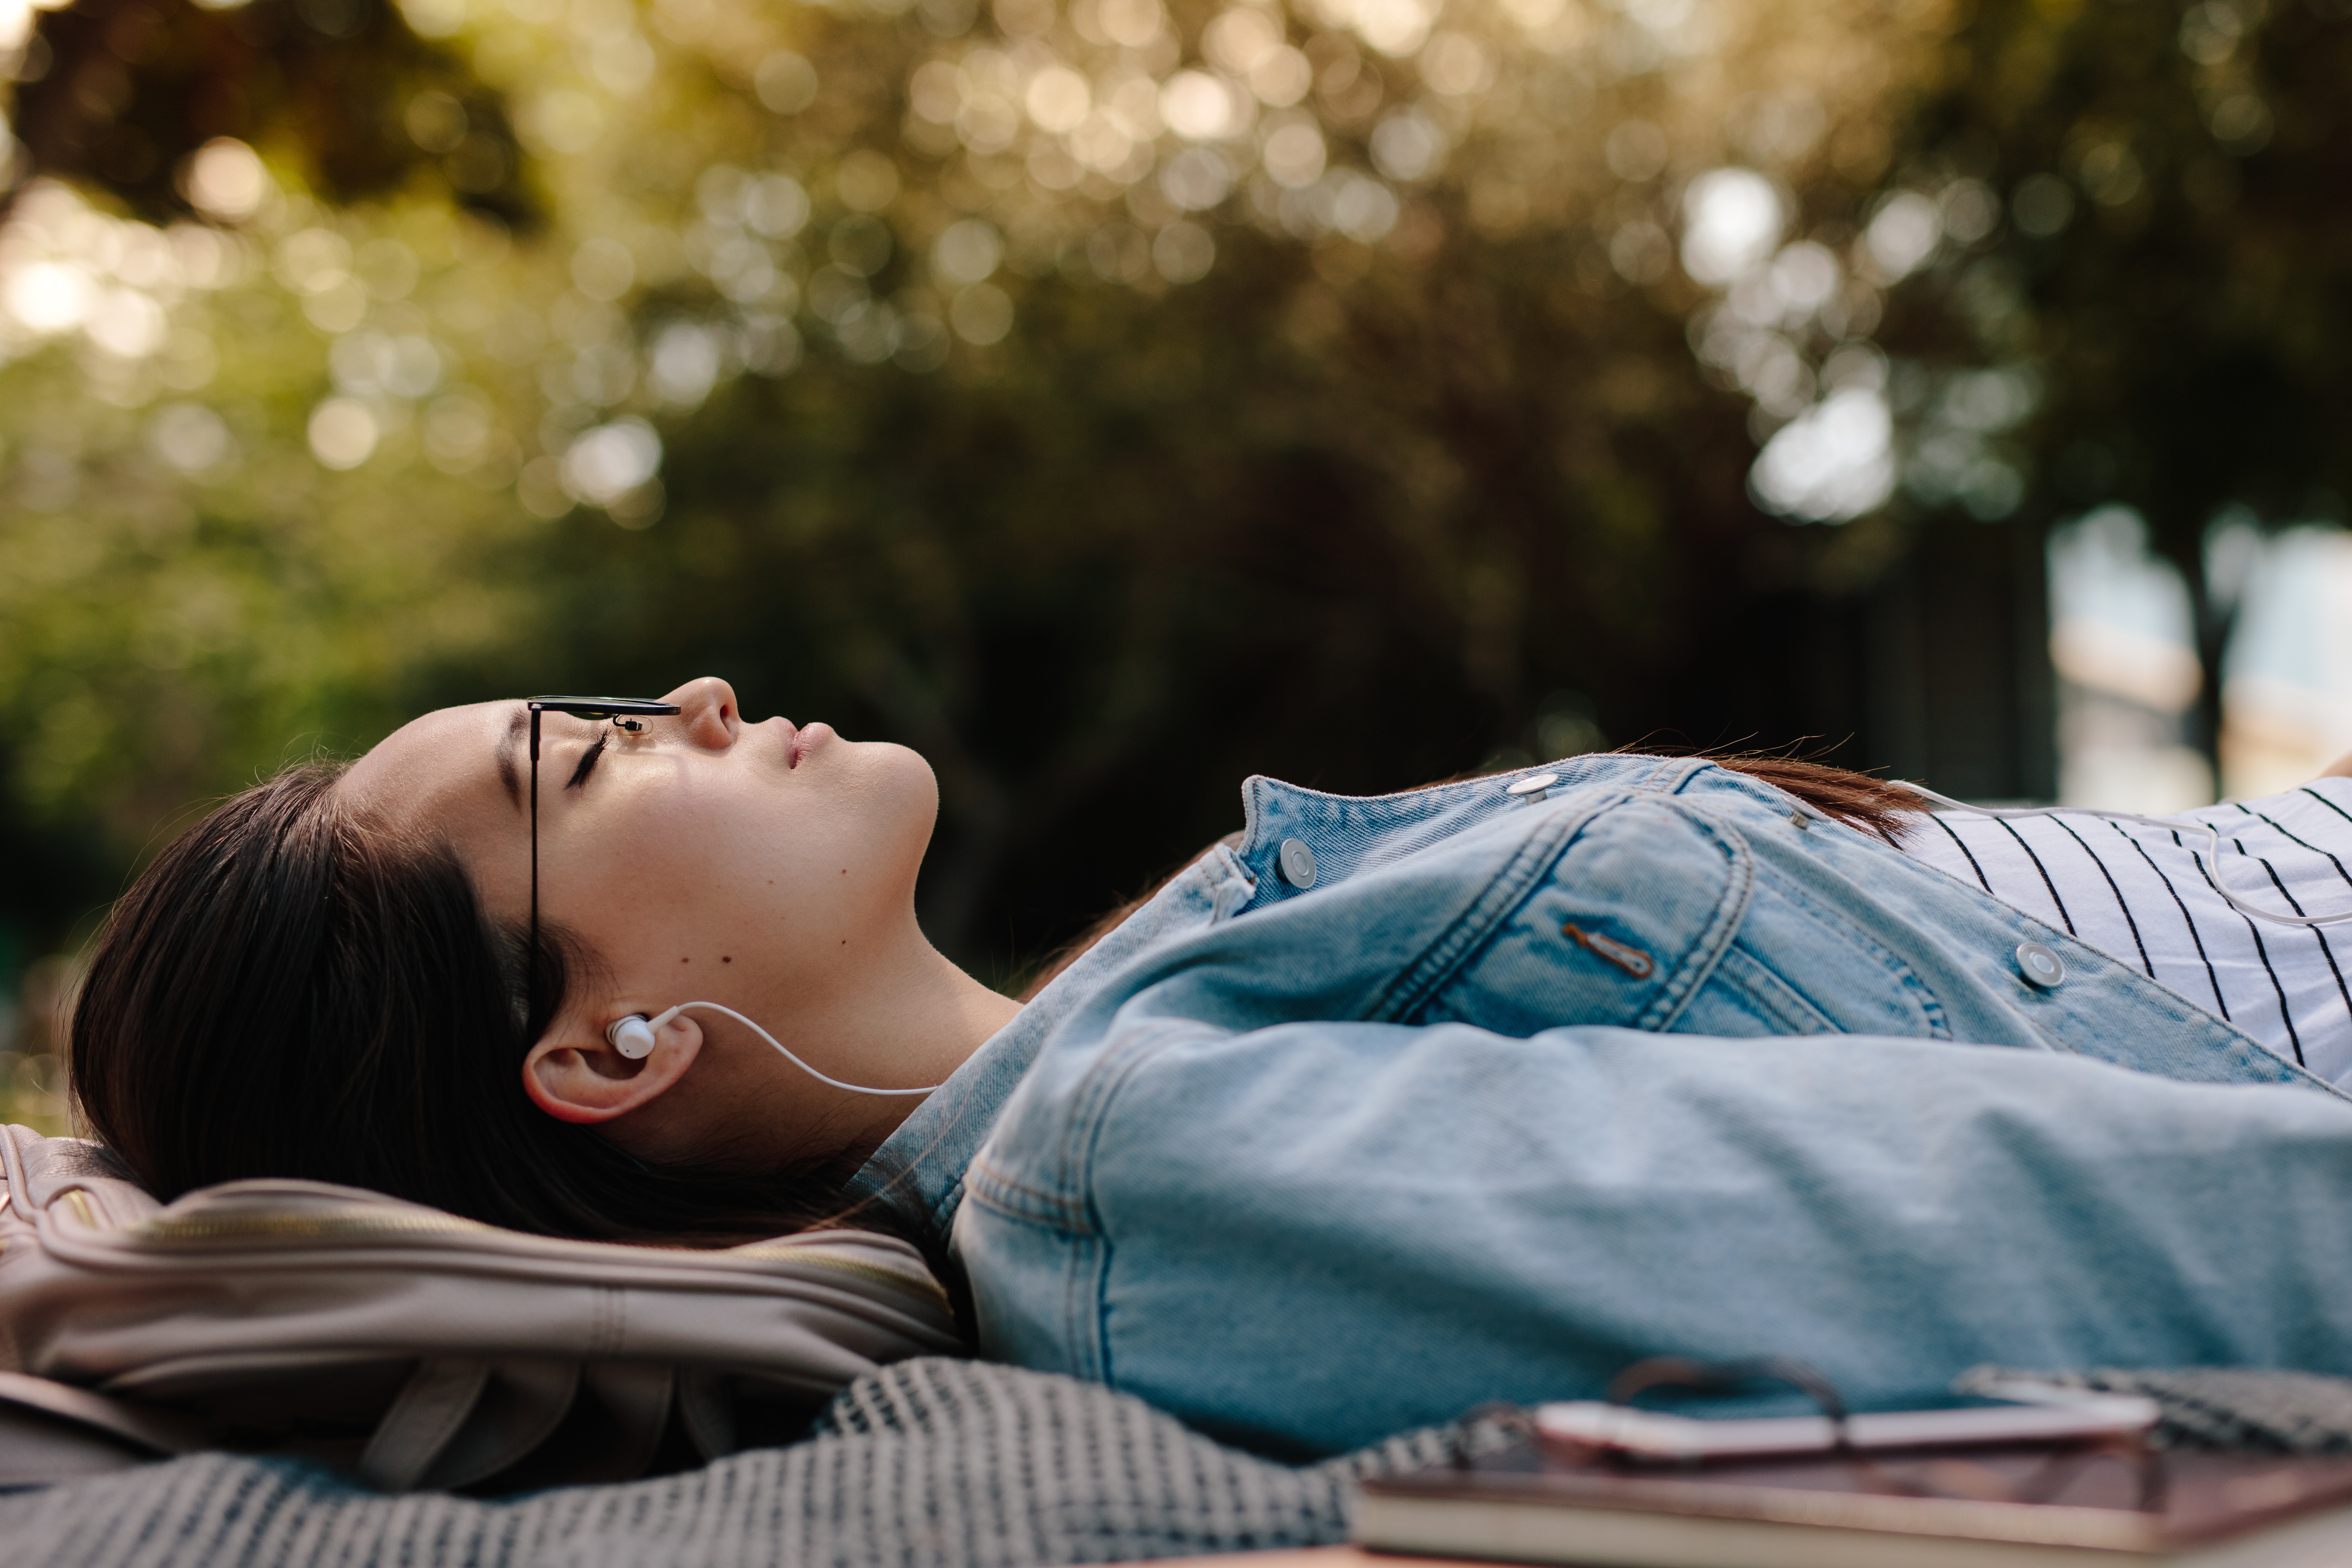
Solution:
<svg viewBox="0 0 2352 1568">
<path fill-rule="evenodd" d="M 2352 912 L 2352 778 L 2180 816 L 2220 827 L 2220 875 L 2241 900 L 2281 914 Z M 2277 926 L 2230 907 L 2213 889 L 2204 832 L 1938 811 L 1903 849 L 2319 1077 L 2352 1081 L 2352 924 Z"/>
</svg>

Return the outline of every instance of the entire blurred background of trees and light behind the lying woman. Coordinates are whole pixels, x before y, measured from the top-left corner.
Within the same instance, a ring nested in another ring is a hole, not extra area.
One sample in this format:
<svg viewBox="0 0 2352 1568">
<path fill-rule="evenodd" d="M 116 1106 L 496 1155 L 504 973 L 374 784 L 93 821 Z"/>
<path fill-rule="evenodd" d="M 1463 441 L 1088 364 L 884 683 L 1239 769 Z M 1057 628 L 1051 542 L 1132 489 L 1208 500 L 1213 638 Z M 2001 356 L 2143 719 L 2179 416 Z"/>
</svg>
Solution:
<svg viewBox="0 0 2352 1568">
<path fill-rule="evenodd" d="M 0 0 L 0 1117 L 205 802 L 452 701 L 938 769 L 1016 983 L 1616 745 L 2352 750 L 2352 0 Z"/>
</svg>

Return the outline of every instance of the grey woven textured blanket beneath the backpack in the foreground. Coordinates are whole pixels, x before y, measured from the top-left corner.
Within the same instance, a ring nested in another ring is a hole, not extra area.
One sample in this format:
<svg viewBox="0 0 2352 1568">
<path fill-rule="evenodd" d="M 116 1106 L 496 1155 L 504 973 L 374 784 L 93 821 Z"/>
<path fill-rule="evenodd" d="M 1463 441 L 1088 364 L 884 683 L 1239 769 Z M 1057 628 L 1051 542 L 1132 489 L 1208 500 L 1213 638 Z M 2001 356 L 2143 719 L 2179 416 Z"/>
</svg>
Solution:
<svg viewBox="0 0 2352 1568">
<path fill-rule="evenodd" d="M 1101 1385 L 924 1359 L 849 1385 L 809 1441 L 682 1476 L 475 1502 L 383 1497 L 310 1467 L 198 1455 L 0 1497 L 0 1559 L 7 1568 L 1110 1563 L 1341 1542 L 1350 1481 L 1435 1465 L 1454 1441 L 1451 1427 L 1411 1432 L 1294 1469 Z"/>
</svg>

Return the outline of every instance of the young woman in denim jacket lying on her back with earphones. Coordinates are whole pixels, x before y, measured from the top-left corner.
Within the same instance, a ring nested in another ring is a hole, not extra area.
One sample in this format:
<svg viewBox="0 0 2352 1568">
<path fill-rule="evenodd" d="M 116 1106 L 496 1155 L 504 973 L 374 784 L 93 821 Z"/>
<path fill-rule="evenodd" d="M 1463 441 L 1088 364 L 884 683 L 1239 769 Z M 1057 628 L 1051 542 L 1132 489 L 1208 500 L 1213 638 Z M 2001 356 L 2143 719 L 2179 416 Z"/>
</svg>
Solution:
<svg viewBox="0 0 2352 1568">
<path fill-rule="evenodd" d="M 2352 780 L 2204 813 L 2213 856 L 1773 762 L 1251 778 L 1016 1004 L 915 924 L 922 757 L 666 703 L 539 715 L 536 769 L 524 703 L 452 708 L 216 809 L 99 945 L 96 1135 L 162 1197 L 896 1225 L 981 1354 L 1287 1453 L 1668 1352 L 1858 1408 L 2352 1373 L 2352 954 L 2223 898 L 2352 910 Z"/>
</svg>

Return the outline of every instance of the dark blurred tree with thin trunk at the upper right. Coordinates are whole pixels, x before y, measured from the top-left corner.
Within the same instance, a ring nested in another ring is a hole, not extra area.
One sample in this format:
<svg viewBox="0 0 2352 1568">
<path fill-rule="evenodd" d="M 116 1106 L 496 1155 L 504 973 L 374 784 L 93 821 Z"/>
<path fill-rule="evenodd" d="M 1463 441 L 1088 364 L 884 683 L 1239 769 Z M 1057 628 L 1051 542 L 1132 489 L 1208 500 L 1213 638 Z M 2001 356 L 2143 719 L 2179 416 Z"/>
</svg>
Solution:
<svg viewBox="0 0 2352 1568">
<path fill-rule="evenodd" d="M 2347 82 L 2343 0 L 1987 0 L 1860 214 L 1917 268 L 1882 329 L 1910 498 L 2136 508 L 2197 597 L 2209 750 L 2234 616 L 2209 529 L 2352 494 Z"/>
</svg>

